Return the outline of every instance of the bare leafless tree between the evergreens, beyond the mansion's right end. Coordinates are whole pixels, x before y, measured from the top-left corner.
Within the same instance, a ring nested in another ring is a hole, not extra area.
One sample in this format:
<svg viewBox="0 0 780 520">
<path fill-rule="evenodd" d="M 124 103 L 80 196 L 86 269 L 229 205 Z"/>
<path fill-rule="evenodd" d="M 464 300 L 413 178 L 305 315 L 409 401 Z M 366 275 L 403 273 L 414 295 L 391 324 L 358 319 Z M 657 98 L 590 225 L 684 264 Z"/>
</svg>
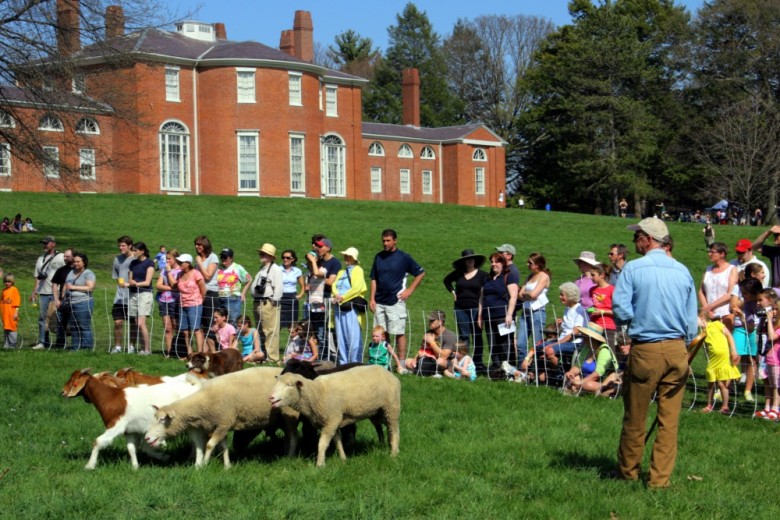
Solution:
<svg viewBox="0 0 780 520">
<path fill-rule="evenodd" d="M 509 193 L 519 181 L 527 148 L 517 129 L 531 103 L 525 77 L 553 29 L 552 22 L 535 16 L 479 16 L 458 20 L 444 42 L 449 83 L 465 103 L 465 119 L 485 123 L 507 142 Z"/>
</svg>

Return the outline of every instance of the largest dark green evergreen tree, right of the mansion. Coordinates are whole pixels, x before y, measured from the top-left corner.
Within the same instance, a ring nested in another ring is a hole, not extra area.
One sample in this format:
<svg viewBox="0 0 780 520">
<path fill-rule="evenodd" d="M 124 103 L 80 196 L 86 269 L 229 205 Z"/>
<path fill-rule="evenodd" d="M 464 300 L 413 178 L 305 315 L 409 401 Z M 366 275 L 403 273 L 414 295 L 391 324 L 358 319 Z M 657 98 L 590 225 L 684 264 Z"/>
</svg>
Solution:
<svg viewBox="0 0 780 520">
<path fill-rule="evenodd" d="M 533 107 L 524 191 L 572 210 L 663 197 L 668 135 L 678 121 L 673 49 L 688 16 L 671 0 L 573 0 L 574 23 L 552 34 L 529 73 Z"/>
</svg>

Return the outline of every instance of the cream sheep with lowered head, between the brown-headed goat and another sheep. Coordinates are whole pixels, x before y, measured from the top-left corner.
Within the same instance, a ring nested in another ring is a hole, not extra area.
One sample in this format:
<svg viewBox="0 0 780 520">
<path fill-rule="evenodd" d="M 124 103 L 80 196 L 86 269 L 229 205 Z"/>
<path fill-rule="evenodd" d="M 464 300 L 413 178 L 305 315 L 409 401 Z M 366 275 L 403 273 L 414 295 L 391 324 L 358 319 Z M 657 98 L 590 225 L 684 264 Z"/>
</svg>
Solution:
<svg viewBox="0 0 780 520">
<path fill-rule="evenodd" d="M 294 455 L 298 413 L 272 409 L 265 399 L 280 372 L 281 368 L 275 367 L 248 368 L 204 381 L 197 394 L 156 410 L 154 424 L 146 432 L 146 442 L 155 446 L 187 432 L 195 448 L 196 467 L 208 464 L 214 448 L 221 446 L 223 462 L 229 468 L 225 440 L 228 432 L 264 429 L 281 420 L 288 454 Z"/>
</svg>

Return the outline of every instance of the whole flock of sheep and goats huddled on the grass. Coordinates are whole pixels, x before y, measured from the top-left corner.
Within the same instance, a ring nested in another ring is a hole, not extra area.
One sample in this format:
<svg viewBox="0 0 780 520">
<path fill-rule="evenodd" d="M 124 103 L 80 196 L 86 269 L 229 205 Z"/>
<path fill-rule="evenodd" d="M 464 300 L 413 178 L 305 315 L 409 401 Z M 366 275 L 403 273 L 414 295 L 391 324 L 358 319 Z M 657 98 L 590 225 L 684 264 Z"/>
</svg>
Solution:
<svg viewBox="0 0 780 520">
<path fill-rule="evenodd" d="M 184 433 L 192 443 L 197 467 L 208 464 L 217 447 L 225 467 L 230 467 L 227 434 L 231 431 L 239 432 L 234 434 L 235 447 L 262 430 L 281 428 L 286 452 L 293 456 L 299 421 L 304 422 L 304 434 L 306 426 L 320 431 L 317 466 L 325 465 L 331 441 L 346 459 L 341 428 L 363 419 L 374 424 L 380 443 L 386 426 L 390 453 L 398 454 L 401 384 L 384 368 L 355 364 L 328 370 L 294 362 L 284 370 L 238 367 L 231 371 L 235 366 L 223 352 L 205 360 L 191 359 L 190 371 L 178 376 L 149 376 L 131 368 L 116 374 L 92 374 L 89 368 L 74 371 L 62 396 L 82 396 L 92 403 L 106 427 L 95 439 L 85 468 L 94 469 L 100 450 L 120 435 L 125 436 L 134 469 L 138 468 L 137 448 L 165 460 L 155 448 Z"/>
</svg>

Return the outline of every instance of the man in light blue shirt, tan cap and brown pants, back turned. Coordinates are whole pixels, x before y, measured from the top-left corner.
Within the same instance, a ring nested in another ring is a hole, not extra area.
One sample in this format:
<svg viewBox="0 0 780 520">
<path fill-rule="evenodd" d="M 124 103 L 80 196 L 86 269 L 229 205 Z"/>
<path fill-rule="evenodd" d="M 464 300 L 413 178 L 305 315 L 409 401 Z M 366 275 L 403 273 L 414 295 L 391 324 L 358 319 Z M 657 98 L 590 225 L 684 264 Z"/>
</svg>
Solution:
<svg viewBox="0 0 780 520">
<path fill-rule="evenodd" d="M 628 325 L 631 354 L 623 378 L 623 429 L 618 475 L 638 480 L 645 448 L 647 410 L 657 392 L 658 434 L 647 485 L 664 488 L 677 457 L 677 425 L 688 356 L 685 348 L 698 331 L 696 287 L 688 269 L 666 255 L 669 235 L 658 218 L 628 226 L 642 258 L 628 262 L 618 278 L 612 311 L 618 325 Z"/>
</svg>

